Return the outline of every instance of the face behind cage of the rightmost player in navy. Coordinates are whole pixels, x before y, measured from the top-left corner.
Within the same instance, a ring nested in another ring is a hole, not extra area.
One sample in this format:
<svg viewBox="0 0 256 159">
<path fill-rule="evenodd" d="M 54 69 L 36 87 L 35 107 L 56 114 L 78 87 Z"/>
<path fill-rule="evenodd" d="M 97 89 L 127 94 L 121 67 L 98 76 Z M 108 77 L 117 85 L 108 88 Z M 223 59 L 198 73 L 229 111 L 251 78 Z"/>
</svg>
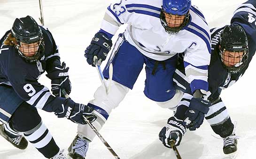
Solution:
<svg viewBox="0 0 256 159">
<path fill-rule="evenodd" d="M 239 64 L 243 58 L 244 51 L 235 52 L 225 50 L 222 54 L 222 59 L 224 65 L 232 67 L 236 64 Z"/>
</svg>

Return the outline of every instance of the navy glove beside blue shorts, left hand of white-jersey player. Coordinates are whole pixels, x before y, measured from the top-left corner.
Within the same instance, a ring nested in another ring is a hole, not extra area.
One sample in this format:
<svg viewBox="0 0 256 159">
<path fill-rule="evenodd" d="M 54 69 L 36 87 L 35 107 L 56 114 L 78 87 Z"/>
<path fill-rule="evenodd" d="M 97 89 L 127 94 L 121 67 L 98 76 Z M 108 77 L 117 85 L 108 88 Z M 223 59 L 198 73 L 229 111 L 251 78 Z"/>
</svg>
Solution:
<svg viewBox="0 0 256 159">
<path fill-rule="evenodd" d="M 85 58 L 87 63 L 95 67 L 93 57 L 97 56 L 101 64 L 107 58 L 107 55 L 112 47 L 112 40 L 104 33 L 96 33 L 91 44 L 85 50 Z"/>
</svg>

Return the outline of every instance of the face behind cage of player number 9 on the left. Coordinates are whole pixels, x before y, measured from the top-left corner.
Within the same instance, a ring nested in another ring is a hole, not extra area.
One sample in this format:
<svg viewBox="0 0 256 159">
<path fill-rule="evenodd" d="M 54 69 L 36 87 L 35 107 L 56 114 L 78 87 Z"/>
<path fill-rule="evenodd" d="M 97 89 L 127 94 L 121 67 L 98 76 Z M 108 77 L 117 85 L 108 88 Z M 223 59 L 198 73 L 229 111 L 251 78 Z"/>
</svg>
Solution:
<svg viewBox="0 0 256 159">
<path fill-rule="evenodd" d="M 34 56 L 39 49 L 39 42 L 35 43 L 20 43 L 19 50 L 23 53 L 25 57 Z"/>
</svg>

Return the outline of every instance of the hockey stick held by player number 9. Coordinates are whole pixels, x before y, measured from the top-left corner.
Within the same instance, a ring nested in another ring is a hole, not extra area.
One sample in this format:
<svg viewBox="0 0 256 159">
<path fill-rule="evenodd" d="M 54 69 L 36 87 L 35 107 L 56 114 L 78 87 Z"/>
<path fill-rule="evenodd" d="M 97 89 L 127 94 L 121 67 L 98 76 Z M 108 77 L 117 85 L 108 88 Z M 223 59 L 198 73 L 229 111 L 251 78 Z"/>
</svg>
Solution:
<svg viewBox="0 0 256 159">
<path fill-rule="evenodd" d="M 65 96 L 65 98 L 69 98 L 69 94 L 66 93 L 66 91 L 64 89 L 61 90 L 62 94 Z M 85 122 L 92 128 L 92 130 L 96 133 L 96 135 L 101 139 L 102 143 L 108 148 L 109 152 L 111 152 L 111 154 L 116 158 L 116 159 L 120 159 L 118 157 L 118 155 L 116 154 L 116 152 L 114 152 L 114 150 L 109 146 L 109 144 L 107 143 L 107 141 L 101 136 L 101 134 L 99 133 L 99 131 L 93 126 L 93 124 L 85 117 L 83 116 L 83 118 L 85 119 Z"/>
</svg>

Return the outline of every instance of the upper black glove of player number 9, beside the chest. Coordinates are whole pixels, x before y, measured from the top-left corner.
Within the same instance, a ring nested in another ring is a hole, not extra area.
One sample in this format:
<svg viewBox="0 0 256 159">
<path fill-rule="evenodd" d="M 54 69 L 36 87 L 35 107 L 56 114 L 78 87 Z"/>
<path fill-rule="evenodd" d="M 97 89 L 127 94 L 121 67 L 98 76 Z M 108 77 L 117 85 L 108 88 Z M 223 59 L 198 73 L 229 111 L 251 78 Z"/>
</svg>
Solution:
<svg viewBox="0 0 256 159">
<path fill-rule="evenodd" d="M 71 82 L 69 79 L 69 67 L 66 68 L 66 64 L 62 62 L 62 65 L 58 67 L 54 67 L 51 72 L 49 72 L 46 76 L 49 79 L 52 79 L 52 93 L 55 96 L 63 97 L 61 94 L 61 90 L 64 89 L 67 94 L 71 92 Z"/>
</svg>

